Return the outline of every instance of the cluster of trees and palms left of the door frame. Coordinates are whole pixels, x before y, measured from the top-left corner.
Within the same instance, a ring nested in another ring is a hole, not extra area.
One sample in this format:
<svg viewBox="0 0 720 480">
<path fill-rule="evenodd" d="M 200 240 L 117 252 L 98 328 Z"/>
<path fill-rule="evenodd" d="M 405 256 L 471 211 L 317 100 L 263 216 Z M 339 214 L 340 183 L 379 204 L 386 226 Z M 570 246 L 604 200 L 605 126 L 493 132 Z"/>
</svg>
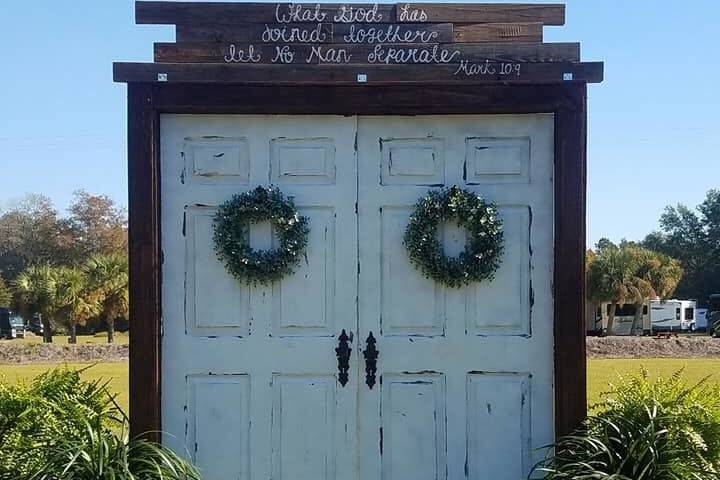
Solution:
<svg viewBox="0 0 720 480">
<path fill-rule="evenodd" d="M 128 317 L 127 215 L 105 195 L 74 193 L 66 216 L 30 194 L 0 211 L 0 305 L 39 314 L 44 340 L 64 327 L 107 326 Z"/>
</svg>

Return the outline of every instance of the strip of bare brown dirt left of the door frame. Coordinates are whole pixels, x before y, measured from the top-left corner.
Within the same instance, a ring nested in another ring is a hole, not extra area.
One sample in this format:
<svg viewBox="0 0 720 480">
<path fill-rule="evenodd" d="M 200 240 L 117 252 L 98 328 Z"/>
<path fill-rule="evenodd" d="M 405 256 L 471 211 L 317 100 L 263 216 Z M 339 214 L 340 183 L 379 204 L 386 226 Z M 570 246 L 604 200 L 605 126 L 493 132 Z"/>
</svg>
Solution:
<svg viewBox="0 0 720 480">
<path fill-rule="evenodd" d="M 0 341 L 0 363 L 124 362 L 127 345 L 67 345 Z"/>
</svg>

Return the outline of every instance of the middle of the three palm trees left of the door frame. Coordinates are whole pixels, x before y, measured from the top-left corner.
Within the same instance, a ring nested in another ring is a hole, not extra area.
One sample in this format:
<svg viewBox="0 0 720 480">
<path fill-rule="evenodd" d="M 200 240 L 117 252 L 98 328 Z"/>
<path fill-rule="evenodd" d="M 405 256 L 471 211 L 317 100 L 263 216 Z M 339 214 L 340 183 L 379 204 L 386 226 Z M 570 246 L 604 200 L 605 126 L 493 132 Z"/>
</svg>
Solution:
<svg viewBox="0 0 720 480">
<path fill-rule="evenodd" d="M 100 312 L 100 302 L 93 295 L 85 273 L 79 268 L 57 267 L 55 308 L 67 324 L 69 343 L 77 343 L 77 326 Z"/>
</svg>

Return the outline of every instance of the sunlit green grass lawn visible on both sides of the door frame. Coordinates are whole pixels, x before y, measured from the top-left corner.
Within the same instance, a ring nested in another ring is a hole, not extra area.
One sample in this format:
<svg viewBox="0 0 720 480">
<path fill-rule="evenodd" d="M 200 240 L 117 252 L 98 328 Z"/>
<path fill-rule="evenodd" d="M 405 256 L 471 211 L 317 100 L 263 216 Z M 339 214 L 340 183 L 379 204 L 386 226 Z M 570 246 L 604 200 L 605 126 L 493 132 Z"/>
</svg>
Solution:
<svg viewBox="0 0 720 480">
<path fill-rule="evenodd" d="M 88 364 L 69 364 L 71 367 L 83 368 Z M 609 382 L 618 379 L 618 373 L 638 372 L 644 366 L 651 375 L 668 376 L 677 370 L 685 370 L 688 382 L 697 382 L 708 375 L 711 381 L 720 383 L 720 359 L 682 359 L 682 358 L 643 358 L 643 359 L 603 359 L 588 360 L 588 402 L 597 403 L 600 392 L 607 390 Z M 52 365 L 0 365 L 0 375 L 9 381 L 30 380 L 40 373 L 52 368 Z M 717 372 L 717 373 L 716 373 Z M 118 393 L 118 403 L 127 411 L 128 408 L 128 364 L 98 363 L 84 374 L 87 379 L 103 378 L 110 380 L 110 388 Z"/>
</svg>

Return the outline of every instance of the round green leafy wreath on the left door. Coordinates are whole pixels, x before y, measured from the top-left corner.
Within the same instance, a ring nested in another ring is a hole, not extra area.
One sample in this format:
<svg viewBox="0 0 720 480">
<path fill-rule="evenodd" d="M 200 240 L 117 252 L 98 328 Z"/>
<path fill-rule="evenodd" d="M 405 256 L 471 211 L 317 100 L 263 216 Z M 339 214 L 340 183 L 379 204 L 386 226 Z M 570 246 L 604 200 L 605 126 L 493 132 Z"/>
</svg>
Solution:
<svg viewBox="0 0 720 480">
<path fill-rule="evenodd" d="M 258 251 L 250 247 L 250 224 L 263 221 L 272 224 L 278 248 Z M 308 219 L 298 214 L 291 199 L 276 188 L 264 187 L 233 195 L 220 205 L 213 227 L 218 259 L 238 280 L 261 285 L 293 273 L 310 231 Z"/>
</svg>

